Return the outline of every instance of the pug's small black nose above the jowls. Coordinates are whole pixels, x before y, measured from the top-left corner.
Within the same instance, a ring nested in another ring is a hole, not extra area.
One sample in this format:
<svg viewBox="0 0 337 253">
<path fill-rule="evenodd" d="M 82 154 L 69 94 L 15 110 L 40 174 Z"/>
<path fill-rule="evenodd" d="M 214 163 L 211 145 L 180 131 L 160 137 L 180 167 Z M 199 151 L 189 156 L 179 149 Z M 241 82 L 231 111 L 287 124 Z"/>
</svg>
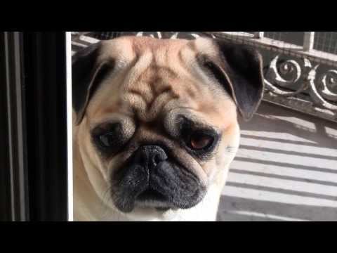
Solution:
<svg viewBox="0 0 337 253">
<path fill-rule="evenodd" d="M 159 162 L 167 160 L 165 151 L 157 145 L 144 145 L 136 151 L 133 162 L 145 169 L 154 169 Z"/>
</svg>

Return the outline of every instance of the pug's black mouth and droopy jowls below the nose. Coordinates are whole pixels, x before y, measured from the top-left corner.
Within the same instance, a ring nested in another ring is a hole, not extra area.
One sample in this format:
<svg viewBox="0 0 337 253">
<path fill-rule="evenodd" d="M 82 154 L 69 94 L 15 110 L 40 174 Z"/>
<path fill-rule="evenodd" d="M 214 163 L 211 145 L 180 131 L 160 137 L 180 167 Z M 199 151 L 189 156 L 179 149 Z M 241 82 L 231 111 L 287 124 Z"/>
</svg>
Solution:
<svg viewBox="0 0 337 253">
<path fill-rule="evenodd" d="M 119 187 L 114 188 L 114 205 L 125 213 L 132 212 L 136 207 L 166 212 L 169 209 L 190 209 L 197 205 L 204 197 L 206 188 L 192 176 L 183 177 L 185 171 L 180 172 L 181 176 L 176 176 L 170 174 L 169 169 L 169 164 L 167 167 L 159 166 L 157 173 L 151 174 L 147 180 L 146 175 L 142 176 L 143 169 L 133 168 L 130 174 L 119 181 Z M 178 174 L 178 169 L 176 171 Z"/>
</svg>

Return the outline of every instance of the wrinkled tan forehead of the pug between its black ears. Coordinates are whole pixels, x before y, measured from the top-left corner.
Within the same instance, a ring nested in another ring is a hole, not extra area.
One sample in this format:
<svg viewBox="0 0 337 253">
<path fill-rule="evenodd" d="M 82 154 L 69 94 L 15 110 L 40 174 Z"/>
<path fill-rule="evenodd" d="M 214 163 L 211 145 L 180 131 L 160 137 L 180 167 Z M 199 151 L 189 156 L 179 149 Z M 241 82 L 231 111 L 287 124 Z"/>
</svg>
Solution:
<svg viewBox="0 0 337 253">
<path fill-rule="evenodd" d="M 216 48 L 209 39 L 121 37 L 104 42 L 100 60 L 113 58 L 119 70 L 103 82 L 89 103 L 90 119 L 134 117 L 134 112 L 140 112 L 151 121 L 179 108 L 190 108 L 199 119 L 219 126 L 223 124 L 221 114 L 236 119 L 232 100 L 197 70 L 198 53 L 215 57 Z M 217 103 L 213 103 L 215 99 Z"/>
</svg>

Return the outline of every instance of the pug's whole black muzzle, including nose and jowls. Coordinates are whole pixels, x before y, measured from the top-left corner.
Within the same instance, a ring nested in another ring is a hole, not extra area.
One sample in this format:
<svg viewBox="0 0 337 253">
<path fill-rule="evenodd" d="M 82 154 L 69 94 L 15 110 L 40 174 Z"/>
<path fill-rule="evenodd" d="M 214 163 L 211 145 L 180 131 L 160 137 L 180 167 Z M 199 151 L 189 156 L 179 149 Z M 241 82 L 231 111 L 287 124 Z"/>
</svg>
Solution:
<svg viewBox="0 0 337 253">
<path fill-rule="evenodd" d="M 204 197 L 197 176 L 159 145 L 143 145 L 112 176 L 112 200 L 121 212 L 135 206 L 188 209 Z"/>
</svg>

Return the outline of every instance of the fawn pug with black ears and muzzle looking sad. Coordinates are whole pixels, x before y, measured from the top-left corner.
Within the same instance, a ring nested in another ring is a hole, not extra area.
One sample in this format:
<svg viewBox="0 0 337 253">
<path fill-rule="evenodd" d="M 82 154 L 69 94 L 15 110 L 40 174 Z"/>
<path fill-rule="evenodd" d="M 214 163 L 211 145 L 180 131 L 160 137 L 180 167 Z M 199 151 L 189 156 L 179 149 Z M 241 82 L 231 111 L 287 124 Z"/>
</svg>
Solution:
<svg viewBox="0 0 337 253">
<path fill-rule="evenodd" d="M 263 96 L 260 54 L 221 39 L 119 37 L 72 60 L 74 221 L 216 221 Z"/>
</svg>

